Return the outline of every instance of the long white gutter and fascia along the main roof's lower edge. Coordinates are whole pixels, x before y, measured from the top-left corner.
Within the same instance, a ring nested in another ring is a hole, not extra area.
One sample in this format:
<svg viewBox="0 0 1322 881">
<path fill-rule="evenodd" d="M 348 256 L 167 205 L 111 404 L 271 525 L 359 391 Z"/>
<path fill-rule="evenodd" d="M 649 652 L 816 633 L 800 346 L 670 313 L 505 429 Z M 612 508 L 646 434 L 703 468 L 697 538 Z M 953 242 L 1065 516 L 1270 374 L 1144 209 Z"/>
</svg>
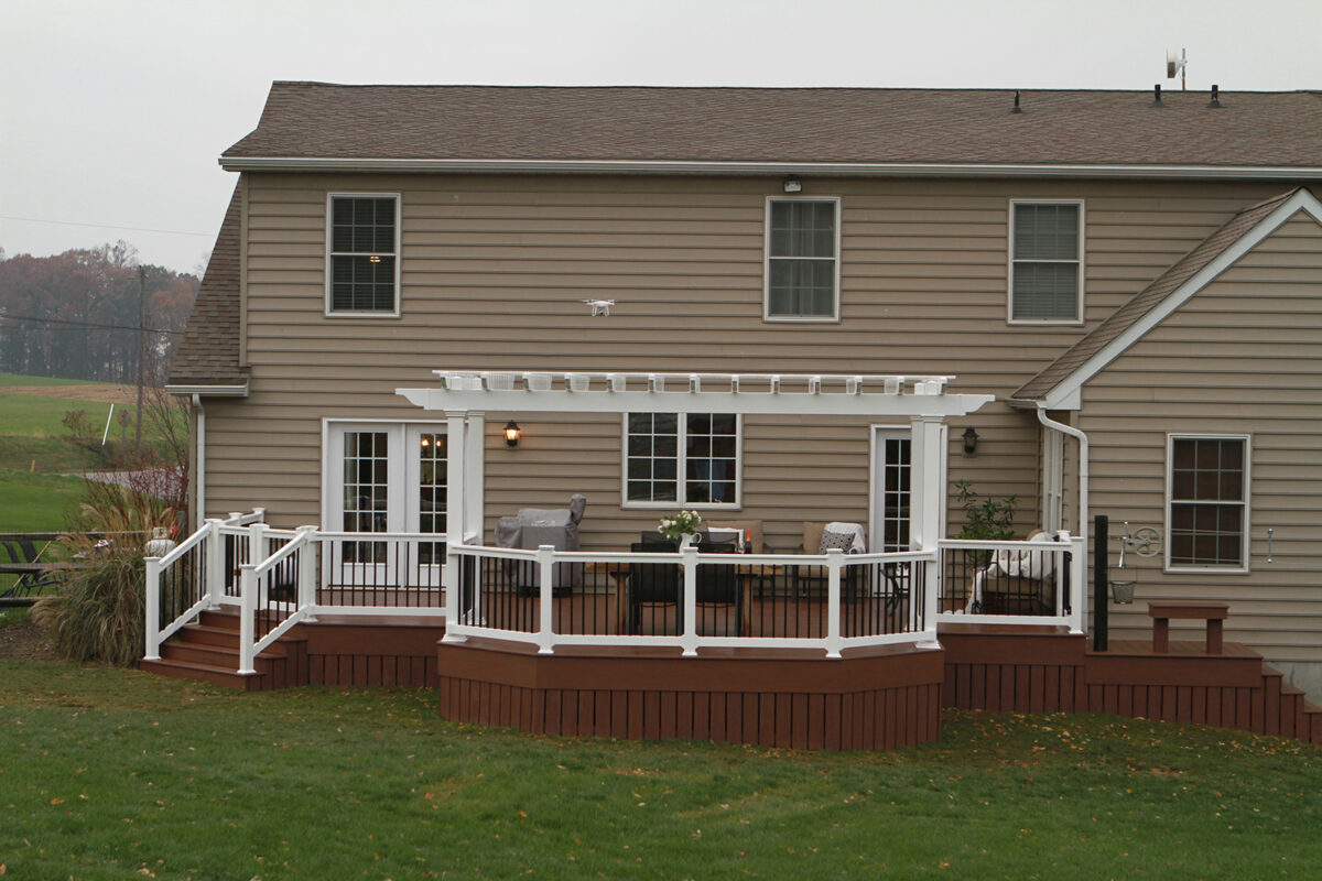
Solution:
<svg viewBox="0 0 1322 881">
<path fill-rule="evenodd" d="M 1043 165 L 1021 162 L 714 162 L 578 159 L 225 157 L 226 172 L 477 172 L 485 174 L 818 174 L 834 177 L 1092 177 L 1322 180 L 1322 166 Z"/>
</svg>

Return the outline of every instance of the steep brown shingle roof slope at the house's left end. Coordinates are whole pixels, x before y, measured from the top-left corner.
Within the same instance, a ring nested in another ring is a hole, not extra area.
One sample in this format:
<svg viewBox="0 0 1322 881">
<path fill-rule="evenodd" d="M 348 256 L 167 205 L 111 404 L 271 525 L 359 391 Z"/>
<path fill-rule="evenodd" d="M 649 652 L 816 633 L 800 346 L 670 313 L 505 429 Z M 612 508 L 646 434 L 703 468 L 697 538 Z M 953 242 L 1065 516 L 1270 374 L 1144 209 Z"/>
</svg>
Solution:
<svg viewBox="0 0 1322 881">
<path fill-rule="evenodd" d="M 242 386 L 239 367 L 239 210 L 243 181 L 234 186 L 225 222 L 171 365 L 172 386 Z"/>
</svg>

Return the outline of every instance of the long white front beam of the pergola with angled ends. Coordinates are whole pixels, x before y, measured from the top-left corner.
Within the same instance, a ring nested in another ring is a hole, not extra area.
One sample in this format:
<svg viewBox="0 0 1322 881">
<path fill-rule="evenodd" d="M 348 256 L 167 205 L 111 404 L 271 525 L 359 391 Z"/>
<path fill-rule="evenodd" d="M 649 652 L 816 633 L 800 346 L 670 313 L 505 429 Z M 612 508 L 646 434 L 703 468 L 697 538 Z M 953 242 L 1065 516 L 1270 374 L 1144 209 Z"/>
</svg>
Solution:
<svg viewBox="0 0 1322 881">
<path fill-rule="evenodd" d="M 804 416 L 965 416 L 993 395 L 812 395 L 720 391 L 451 391 L 397 388 L 423 409 L 524 413 L 756 413 Z"/>
</svg>

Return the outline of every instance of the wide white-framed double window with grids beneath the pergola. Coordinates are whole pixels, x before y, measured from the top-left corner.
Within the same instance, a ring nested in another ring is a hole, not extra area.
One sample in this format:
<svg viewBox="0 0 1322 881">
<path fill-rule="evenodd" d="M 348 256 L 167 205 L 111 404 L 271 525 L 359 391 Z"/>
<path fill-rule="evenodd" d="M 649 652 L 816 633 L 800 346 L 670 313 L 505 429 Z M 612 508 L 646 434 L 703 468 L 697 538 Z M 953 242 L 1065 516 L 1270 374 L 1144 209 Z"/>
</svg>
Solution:
<svg viewBox="0 0 1322 881">
<path fill-rule="evenodd" d="M 627 507 L 738 507 L 739 417 L 734 413 L 628 413 Z"/>
</svg>

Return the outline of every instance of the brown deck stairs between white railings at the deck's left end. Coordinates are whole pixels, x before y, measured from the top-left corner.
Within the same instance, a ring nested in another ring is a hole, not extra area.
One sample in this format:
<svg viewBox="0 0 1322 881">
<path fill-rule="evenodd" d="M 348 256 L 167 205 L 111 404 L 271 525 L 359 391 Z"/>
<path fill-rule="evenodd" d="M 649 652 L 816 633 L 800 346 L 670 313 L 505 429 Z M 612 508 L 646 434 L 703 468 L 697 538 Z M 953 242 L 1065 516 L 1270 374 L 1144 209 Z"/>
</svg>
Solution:
<svg viewBox="0 0 1322 881">
<path fill-rule="evenodd" d="M 143 660 L 139 668 L 239 691 L 308 684 L 307 643 L 299 637 L 276 642 L 256 656 L 255 674 L 239 675 L 239 616 L 223 610 L 204 612 L 197 623 L 184 626 L 161 645 L 160 660 Z"/>
</svg>

